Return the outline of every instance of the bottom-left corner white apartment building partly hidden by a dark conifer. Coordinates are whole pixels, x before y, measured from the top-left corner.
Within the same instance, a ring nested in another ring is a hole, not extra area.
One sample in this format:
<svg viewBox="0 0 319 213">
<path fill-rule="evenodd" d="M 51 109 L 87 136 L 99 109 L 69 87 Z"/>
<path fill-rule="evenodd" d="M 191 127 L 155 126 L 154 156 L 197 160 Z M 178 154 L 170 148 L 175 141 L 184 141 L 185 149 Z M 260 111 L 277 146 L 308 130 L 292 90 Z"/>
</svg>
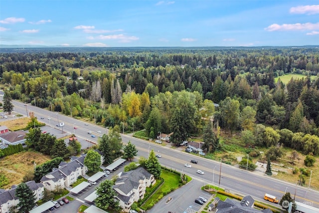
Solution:
<svg viewBox="0 0 319 213">
<path fill-rule="evenodd" d="M 43 198 L 43 184 L 37 184 L 34 181 L 28 181 L 25 184 L 33 191 L 35 202 Z M 12 186 L 9 190 L 0 189 L 0 213 L 8 213 L 11 207 L 19 203 L 19 198 L 15 196 L 15 190 L 16 186 Z"/>
</svg>

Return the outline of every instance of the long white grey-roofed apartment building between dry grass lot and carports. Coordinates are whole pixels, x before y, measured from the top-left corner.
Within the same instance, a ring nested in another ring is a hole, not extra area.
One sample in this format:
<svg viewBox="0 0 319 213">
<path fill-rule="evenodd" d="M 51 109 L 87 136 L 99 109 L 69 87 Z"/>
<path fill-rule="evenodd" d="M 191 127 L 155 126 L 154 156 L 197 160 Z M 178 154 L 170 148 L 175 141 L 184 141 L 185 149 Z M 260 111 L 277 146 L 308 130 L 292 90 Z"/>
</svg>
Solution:
<svg viewBox="0 0 319 213">
<path fill-rule="evenodd" d="M 72 158 L 70 163 L 61 162 L 58 168 L 54 168 L 52 172 L 41 178 L 44 188 L 52 191 L 70 187 L 79 176 L 85 175 L 88 171 L 84 166 L 84 158 L 85 156 Z"/>
</svg>

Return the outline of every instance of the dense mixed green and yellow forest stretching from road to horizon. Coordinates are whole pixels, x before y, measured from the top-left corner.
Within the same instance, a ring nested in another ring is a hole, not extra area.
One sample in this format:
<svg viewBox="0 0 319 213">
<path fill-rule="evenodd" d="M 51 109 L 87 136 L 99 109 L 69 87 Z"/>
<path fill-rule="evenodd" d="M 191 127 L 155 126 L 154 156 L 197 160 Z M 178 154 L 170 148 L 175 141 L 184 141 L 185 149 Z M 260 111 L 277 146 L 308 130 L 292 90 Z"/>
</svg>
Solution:
<svg viewBox="0 0 319 213">
<path fill-rule="evenodd" d="M 288 73 L 305 77 L 275 81 Z M 319 155 L 319 78 L 311 78 L 318 73 L 319 49 L 306 47 L 0 53 L 2 87 L 13 99 L 105 127 L 146 129 L 150 138 L 173 132 L 173 143 L 201 136 L 211 152 L 221 149 L 221 128 L 250 146 Z"/>
</svg>

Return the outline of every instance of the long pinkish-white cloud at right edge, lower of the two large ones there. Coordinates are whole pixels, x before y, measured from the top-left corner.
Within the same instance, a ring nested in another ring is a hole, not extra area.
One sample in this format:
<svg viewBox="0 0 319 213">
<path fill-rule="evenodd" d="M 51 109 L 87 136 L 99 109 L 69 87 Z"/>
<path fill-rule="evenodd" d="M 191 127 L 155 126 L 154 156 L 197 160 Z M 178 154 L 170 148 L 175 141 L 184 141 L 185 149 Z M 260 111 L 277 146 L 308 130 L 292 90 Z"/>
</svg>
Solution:
<svg viewBox="0 0 319 213">
<path fill-rule="evenodd" d="M 282 24 L 274 23 L 265 28 L 268 31 L 292 31 L 292 30 L 315 30 L 319 29 L 318 23 L 294 23 L 294 24 Z"/>
</svg>

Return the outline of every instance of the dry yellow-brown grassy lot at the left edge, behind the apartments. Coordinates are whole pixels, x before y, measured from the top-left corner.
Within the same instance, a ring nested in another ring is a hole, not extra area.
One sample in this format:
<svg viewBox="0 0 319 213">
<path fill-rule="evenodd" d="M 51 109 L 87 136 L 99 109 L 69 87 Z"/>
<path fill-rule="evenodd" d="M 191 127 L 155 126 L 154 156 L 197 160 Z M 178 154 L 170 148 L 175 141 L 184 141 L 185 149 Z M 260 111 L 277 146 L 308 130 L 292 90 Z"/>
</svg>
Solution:
<svg viewBox="0 0 319 213">
<path fill-rule="evenodd" d="M 37 152 L 20 152 L 0 159 L 0 174 L 10 181 L 4 188 L 20 184 L 28 171 L 34 171 L 33 162 L 40 165 L 49 160 L 49 156 Z"/>
</svg>

